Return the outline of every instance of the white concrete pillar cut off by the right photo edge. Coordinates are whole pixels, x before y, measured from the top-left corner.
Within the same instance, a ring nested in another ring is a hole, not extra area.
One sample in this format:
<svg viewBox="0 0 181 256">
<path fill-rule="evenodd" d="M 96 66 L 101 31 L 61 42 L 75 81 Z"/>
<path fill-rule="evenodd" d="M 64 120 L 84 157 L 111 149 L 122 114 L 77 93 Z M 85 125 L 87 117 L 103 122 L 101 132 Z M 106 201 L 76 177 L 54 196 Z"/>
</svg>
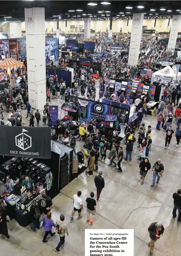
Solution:
<svg viewBox="0 0 181 256">
<path fill-rule="evenodd" d="M 175 50 L 176 48 L 176 40 L 178 36 L 178 28 L 180 24 L 181 15 L 173 15 L 171 32 L 168 40 L 168 49 Z"/>
</svg>

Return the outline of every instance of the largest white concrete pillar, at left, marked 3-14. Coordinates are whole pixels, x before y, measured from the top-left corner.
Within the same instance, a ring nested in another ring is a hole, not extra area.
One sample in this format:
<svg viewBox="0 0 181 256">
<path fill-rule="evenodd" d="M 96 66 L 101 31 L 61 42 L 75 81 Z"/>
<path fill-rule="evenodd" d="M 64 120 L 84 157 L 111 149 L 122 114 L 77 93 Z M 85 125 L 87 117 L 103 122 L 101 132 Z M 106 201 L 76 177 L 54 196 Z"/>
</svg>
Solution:
<svg viewBox="0 0 181 256">
<path fill-rule="evenodd" d="M 45 8 L 25 8 L 28 94 L 32 108 L 46 104 Z"/>
</svg>

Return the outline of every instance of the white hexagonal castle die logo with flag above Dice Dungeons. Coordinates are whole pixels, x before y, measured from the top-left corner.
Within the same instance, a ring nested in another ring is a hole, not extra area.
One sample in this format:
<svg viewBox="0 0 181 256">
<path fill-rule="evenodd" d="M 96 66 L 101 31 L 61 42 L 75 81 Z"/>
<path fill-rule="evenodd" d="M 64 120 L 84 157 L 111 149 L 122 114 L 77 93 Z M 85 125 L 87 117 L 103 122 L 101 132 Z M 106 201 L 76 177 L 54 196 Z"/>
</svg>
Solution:
<svg viewBox="0 0 181 256">
<path fill-rule="evenodd" d="M 23 132 L 16 135 L 15 137 L 16 146 L 18 148 L 21 148 L 22 150 L 26 150 L 28 148 L 31 148 L 32 146 L 31 137 L 24 132 L 28 132 L 28 131 L 23 129 Z"/>
</svg>

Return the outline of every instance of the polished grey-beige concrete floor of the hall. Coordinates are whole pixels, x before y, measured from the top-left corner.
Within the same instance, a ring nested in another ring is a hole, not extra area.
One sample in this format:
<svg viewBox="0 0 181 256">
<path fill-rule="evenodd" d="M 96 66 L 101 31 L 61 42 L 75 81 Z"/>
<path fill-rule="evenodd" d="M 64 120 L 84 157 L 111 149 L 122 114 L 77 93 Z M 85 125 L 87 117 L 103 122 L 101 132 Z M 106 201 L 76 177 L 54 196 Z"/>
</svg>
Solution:
<svg viewBox="0 0 181 256">
<path fill-rule="evenodd" d="M 54 104 L 61 104 L 61 100 L 53 100 Z M 25 116 L 22 111 L 22 116 Z M 64 113 L 63 113 L 64 115 Z M 28 124 L 27 119 L 25 120 Z M 152 170 L 150 170 L 141 185 L 140 175 L 137 172 L 139 161 L 137 161 L 137 145 L 134 145 L 133 160 L 123 160 L 123 174 L 118 174 L 114 167 L 108 166 L 109 160 L 99 162 L 99 170 L 102 170 L 105 178 L 105 188 L 102 190 L 100 201 L 97 203 L 97 214 L 94 224 L 86 224 L 85 200 L 90 192 L 96 193 L 94 186 L 94 175 L 88 176 L 82 173 L 78 178 L 69 183 L 61 193 L 53 199 L 52 218 L 58 219 L 60 213 L 66 217 L 69 236 L 61 248 L 61 256 L 84 256 L 84 230 L 89 229 L 134 229 L 134 256 L 146 256 L 149 252 L 147 245 L 149 232 L 147 228 L 152 222 L 161 222 L 165 227 L 163 237 L 157 241 L 154 256 L 180 256 L 181 255 L 181 223 L 172 219 L 173 198 L 172 194 L 181 188 L 180 179 L 180 156 L 181 146 L 176 148 L 175 138 L 171 145 L 164 150 L 163 130 L 155 129 L 156 119 L 152 116 L 144 117 L 145 125 L 152 125 L 152 151 L 149 159 L 153 165 L 157 158 L 162 160 L 165 167 L 163 178 L 158 185 L 152 184 Z M 175 124 L 173 128 L 175 128 Z M 137 136 L 136 136 L 137 137 Z M 125 151 L 125 145 L 121 143 Z M 77 150 L 82 143 L 77 142 Z M 83 218 L 70 220 L 73 209 L 73 195 L 82 191 L 84 210 Z M 49 237 L 47 244 L 42 244 L 44 231 L 31 232 L 29 227 L 21 227 L 15 220 L 8 223 L 10 240 L 0 237 L 0 256 L 50 256 L 56 255 L 54 251 L 58 243 L 58 235 Z"/>
</svg>

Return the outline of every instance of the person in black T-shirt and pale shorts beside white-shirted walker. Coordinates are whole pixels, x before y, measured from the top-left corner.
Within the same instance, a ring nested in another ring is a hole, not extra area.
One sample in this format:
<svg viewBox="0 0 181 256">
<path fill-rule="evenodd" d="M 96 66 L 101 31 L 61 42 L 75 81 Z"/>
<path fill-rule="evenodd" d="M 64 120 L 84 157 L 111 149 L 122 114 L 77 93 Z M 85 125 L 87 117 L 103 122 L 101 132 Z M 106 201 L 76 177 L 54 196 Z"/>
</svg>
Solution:
<svg viewBox="0 0 181 256">
<path fill-rule="evenodd" d="M 92 225 L 93 218 L 96 214 L 96 201 L 94 199 L 94 192 L 90 193 L 90 197 L 86 199 L 87 203 L 87 220 L 86 223 L 89 223 L 89 225 Z M 89 219 L 90 214 L 92 214 L 91 218 Z"/>
</svg>

